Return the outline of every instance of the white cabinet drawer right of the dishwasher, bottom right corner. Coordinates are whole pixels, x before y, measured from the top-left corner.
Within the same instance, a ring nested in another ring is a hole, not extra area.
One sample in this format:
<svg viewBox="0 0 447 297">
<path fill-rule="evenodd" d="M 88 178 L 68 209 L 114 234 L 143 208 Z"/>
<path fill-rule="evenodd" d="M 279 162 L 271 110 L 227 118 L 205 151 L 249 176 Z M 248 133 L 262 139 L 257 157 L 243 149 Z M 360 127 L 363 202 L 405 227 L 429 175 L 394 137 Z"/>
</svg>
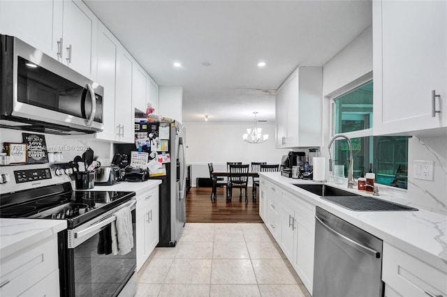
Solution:
<svg viewBox="0 0 447 297">
<path fill-rule="evenodd" d="M 447 296 L 447 273 L 383 243 L 382 279 L 402 296 Z"/>
</svg>

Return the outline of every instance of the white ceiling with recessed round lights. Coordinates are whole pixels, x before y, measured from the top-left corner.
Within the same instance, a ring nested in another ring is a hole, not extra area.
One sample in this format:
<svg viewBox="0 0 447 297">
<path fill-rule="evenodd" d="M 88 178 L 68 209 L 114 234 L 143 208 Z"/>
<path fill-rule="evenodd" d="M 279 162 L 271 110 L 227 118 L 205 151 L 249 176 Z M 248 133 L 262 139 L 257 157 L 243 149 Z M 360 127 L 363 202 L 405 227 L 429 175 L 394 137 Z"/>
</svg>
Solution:
<svg viewBox="0 0 447 297">
<path fill-rule="evenodd" d="M 184 122 L 273 122 L 296 67 L 323 66 L 372 24 L 370 0 L 84 1 L 159 85 L 183 87 Z"/>
</svg>

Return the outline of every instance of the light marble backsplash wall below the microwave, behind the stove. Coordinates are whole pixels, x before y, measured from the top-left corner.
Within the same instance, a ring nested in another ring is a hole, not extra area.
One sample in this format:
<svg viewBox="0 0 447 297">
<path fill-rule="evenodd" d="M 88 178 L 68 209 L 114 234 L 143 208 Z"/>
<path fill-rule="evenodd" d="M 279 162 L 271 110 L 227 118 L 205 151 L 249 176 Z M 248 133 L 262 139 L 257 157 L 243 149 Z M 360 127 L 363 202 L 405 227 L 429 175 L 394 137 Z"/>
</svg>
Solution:
<svg viewBox="0 0 447 297">
<path fill-rule="evenodd" d="M 0 142 L 22 143 L 22 132 L 20 130 L 0 128 Z M 94 155 L 98 155 L 98 161 L 101 165 L 109 165 L 112 160 L 110 142 L 100 142 L 92 139 L 92 135 L 52 135 L 38 132 L 30 132 L 38 135 L 45 135 L 47 151 L 60 151 L 64 156 L 64 161 L 73 160 L 76 155 L 82 157 L 88 147 L 94 151 Z"/>
</svg>

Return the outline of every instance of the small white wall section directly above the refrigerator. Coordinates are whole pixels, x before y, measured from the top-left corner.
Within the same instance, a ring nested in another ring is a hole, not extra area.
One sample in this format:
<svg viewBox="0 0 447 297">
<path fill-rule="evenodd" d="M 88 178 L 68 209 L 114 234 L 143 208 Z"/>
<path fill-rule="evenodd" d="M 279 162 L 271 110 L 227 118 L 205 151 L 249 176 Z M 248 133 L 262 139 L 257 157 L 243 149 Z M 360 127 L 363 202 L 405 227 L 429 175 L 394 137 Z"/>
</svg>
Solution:
<svg viewBox="0 0 447 297">
<path fill-rule="evenodd" d="M 156 114 L 183 123 L 183 88 L 181 86 L 159 86 L 159 110 Z"/>
</svg>

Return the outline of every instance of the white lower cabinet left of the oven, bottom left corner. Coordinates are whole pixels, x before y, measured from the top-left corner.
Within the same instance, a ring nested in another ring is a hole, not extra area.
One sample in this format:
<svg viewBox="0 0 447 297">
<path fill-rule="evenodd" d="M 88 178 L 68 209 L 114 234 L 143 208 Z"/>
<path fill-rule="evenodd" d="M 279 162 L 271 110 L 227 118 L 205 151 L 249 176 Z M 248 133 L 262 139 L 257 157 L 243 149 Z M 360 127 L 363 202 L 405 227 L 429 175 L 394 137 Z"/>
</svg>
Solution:
<svg viewBox="0 0 447 297">
<path fill-rule="evenodd" d="M 0 296 L 59 296 L 57 234 L 0 263 Z"/>
</svg>

